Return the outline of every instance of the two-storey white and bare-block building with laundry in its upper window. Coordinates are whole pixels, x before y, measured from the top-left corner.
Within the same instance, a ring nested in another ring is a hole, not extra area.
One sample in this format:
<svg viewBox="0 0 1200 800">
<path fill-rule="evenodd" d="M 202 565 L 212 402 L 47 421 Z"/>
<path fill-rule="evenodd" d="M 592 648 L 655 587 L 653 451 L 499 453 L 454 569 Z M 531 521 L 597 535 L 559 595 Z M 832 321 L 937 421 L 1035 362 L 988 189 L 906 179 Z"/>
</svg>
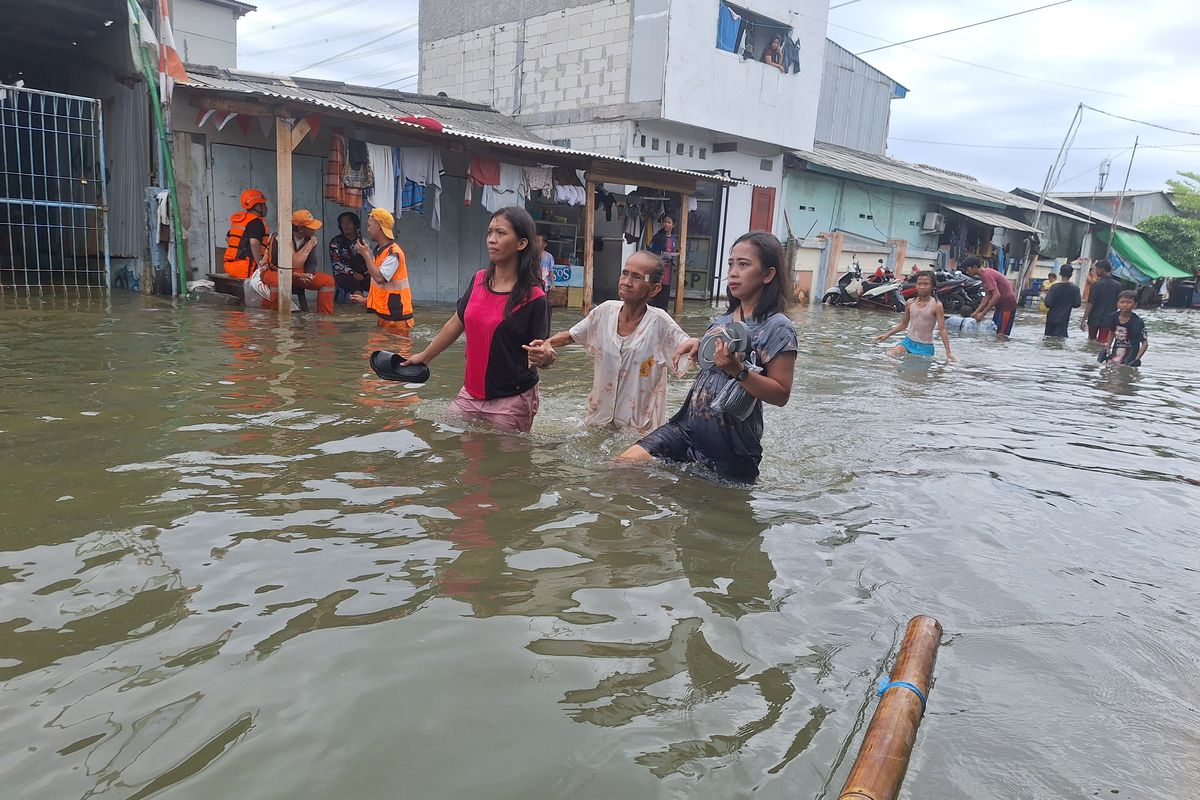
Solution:
<svg viewBox="0 0 1200 800">
<path fill-rule="evenodd" d="M 827 14 L 821 0 L 425 0 L 419 85 L 557 144 L 743 179 L 690 217 L 686 287 L 704 295 L 727 242 L 782 229 L 784 154 L 812 146 Z M 775 35 L 798 67 L 762 61 Z"/>
</svg>

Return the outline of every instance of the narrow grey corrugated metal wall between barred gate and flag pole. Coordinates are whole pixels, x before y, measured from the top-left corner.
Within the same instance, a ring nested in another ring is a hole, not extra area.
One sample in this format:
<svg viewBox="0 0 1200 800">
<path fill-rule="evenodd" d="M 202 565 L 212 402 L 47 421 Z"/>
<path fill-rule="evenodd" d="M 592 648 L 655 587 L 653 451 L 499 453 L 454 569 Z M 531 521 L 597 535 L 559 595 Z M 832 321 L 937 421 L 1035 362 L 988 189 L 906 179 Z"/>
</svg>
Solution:
<svg viewBox="0 0 1200 800">
<path fill-rule="evenodd" d="M 145 84 L 113 83 L 104 107 L 108 241 L 114 258 L 145 258 L 145 187 L 150 185 L 150 106 Z"/>
</svg>

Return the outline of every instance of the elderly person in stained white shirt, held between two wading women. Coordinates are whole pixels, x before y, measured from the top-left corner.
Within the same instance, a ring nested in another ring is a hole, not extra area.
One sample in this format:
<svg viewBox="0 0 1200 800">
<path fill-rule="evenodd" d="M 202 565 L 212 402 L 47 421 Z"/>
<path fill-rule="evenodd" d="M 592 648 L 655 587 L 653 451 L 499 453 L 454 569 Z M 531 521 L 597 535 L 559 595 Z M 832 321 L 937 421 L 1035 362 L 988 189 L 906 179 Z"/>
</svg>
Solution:
<svg viewBox="0 0 1200 800">
<path fill-rule="evenodd" d="M 666 422 L 667 369 L 689 337 L 671 314 L 649 305 L 661 290 L 662 269 L 658 254 L 634 253 L 620 271 L 620 300 L 600 303 L 569 331 L 526 345 L 529 365 L 542 369 L 558 357 L 556 347 L 587 348 L 594 362 L 588 425 L 646 433 Z"/>
</svg>

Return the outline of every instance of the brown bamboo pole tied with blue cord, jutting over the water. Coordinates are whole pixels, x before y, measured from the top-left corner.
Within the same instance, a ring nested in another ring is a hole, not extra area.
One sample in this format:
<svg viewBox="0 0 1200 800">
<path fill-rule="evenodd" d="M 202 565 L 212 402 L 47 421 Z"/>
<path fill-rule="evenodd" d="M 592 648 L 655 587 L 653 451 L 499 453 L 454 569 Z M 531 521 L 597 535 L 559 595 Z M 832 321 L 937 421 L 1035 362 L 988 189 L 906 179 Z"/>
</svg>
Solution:
<svg viewBox="0 0 1200 800">
<path fill-rule="evenodd" d="M 894 800 L 900 793 L 941 640 L 942 625 L 932 616 L 908 620 L 892 678 L 881 685 L 880 704 L 839 800 Z"/>
</svg>

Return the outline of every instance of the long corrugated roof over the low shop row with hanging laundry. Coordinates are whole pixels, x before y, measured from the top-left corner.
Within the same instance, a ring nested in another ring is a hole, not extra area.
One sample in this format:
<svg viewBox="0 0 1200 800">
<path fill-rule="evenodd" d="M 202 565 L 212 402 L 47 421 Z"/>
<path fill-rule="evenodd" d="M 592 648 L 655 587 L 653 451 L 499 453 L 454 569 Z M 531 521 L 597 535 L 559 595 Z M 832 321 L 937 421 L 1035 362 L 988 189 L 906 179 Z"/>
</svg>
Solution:
<svg viewBox="0 0 1200 800">
<path fill-rule="evenodd" d="M 274 97 L 302 106 L 328 108 L 343 114 L 362 116 L 367 120 L 386 122 L 395 127 L 409 127 L 426 134 L 430 133 L 428 128 L 412 122 L 402 122 L 398 118 L 431 116 L 444 126 L 443 136 L 456 139 L 469 139 L 498 148 L 545 154 L 546 156 L 557 155 L 574 160 L 624 164 L 662 175 L 684 175 L 725 186 L 733 186 L 738 182 L 708 173 L 674 169 L 631 158 L 606 156 L 586 150 L 574 150 L 571 148 L 559 148 L 540 139 L 514 119 L 500 114 L 488 106 L 468 103 L 449 97 L 413 95 L 376 86 L 355 86 L 336 80 L 288 78 L 284 76 L 197 65 L 187 66 L 187 82 L 180 85 L 199 91 L 227 96 L 252 95 L 256 97 Z"/>
</svg>

